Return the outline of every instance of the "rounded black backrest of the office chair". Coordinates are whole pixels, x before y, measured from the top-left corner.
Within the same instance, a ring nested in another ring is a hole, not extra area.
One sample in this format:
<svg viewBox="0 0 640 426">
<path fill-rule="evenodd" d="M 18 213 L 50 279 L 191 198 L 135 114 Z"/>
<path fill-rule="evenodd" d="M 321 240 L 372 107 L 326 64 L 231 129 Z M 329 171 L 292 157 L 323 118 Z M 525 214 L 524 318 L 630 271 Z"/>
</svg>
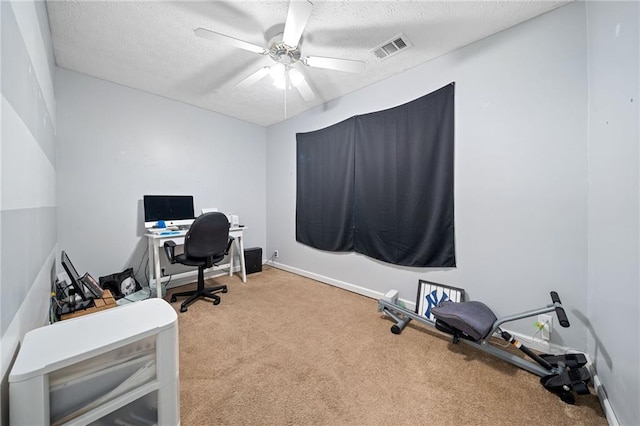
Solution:
<svg viewBox="0 0 640 426">
<path fill-rule="evenodd" d="M 225 252 L 229 243 L 229 221 L 224 213 L 204 213 L 191 224 L 184 237 L 188 257 L 207 258 Z"/>
</svg>

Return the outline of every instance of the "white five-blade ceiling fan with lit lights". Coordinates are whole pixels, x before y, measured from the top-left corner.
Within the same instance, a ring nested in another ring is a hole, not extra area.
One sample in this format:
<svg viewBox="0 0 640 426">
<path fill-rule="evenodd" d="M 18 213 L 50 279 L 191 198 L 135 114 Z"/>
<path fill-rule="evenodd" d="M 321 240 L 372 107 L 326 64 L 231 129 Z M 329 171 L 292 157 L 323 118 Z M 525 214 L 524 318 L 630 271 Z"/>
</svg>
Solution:
<svg viewBox="0 0 640 426">
<path fill-rule="evenodd" d="M 266 39 L 269 41 L 266 47 L 207 30 L 206 28 L 196 28 L 194 33 L 198 37 L 215 40 L 260 55 L 267 55 L 275 62 L 271 66 L 262 67 L 250 74 L 237 83 L 236 87 L 249 87 L 269 74 L 274 80 L 274 86 L 286 89 L 292 85 L 300 92 L 302 98 L 308 102 L 315 98 L 315 94 L 305 80 L 304 75 L 297 69 L 296 64 L 351 73 L 359 73 L 364 69 L 364 62 L 361 61 L 321 56 L 302 56 L 300 52 L 302 33 L 307 25 L 309 16 L 311 16 L 312 9 L 313 5 L 308 0 L 291 0 L 284 29 L 280 25 L 270 31 L 272 34 L 268 32 Z"/>
</svg>

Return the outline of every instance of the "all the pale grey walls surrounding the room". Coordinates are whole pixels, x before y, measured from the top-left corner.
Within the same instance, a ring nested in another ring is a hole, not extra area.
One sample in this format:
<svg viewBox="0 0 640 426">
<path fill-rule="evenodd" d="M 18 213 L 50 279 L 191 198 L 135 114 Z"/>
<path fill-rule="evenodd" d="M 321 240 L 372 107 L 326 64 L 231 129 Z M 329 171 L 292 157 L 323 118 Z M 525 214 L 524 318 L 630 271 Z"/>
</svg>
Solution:
<svg viewBox="0 0 640 426">
<path fill-rule="evenodd" d="M 265 131 L 65 70 L 56 100 L 44 4 L 2 2 L 0 420 L 10 360 L 24 332 L 44 321 L 58 250 L 96 277 L 137 268 L 142 196 L 184 193 L 197 209 L 239 214 L 246 246 L 266 247 L 266 257 L 278 249 L 283 267 L 372 296 L 397 288 L 414 301 L 423 278 L 508 314 L 559 291 L 572 327 L 553 342 L 589 349 L 620 423 L 633 424 L 639 15 L 635 2 L 571 4 Z M 9 52 L 18 60 L 7 61 Z M 396 267 L 296 243 L 295 133 L 451 81 L 458 267 Z M 25 239 L 24 229 L 35 231 Z M 511 328 L 534 332 L 530 321 Z"/>
</svg>

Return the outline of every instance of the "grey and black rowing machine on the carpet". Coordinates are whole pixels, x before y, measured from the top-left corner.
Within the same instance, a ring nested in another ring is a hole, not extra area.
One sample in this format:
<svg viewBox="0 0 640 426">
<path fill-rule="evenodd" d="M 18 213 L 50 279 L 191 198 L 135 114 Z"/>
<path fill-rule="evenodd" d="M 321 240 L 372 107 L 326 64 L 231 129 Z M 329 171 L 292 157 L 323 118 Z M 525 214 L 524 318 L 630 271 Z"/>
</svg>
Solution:
<svg viewBox="0 0 640 426">
<path fill-rule="evenodd" d="M 511 334 L 502 330 L 500 326 L 506 322 L 555 311 L 560 325 L 569 327 L 569 320 L 562 307 L 558 293 L 551 292 L 553 303 L 538 309 L 515 315 L 497 318 L 495 314 L 482 302 L 451 302 L 440 303 L 432 308 L 435 321 L 417 315 L 415 312 L 397 304 L 398 292 L 391 290 L 378 301 L 378 312 L 383 312 L 395 321 L 391 326 L 393 334 L 400 334 L 409 321 L 415 320 L 421 324 L 453 336 L 453 343 L 460 341 L 467 343 L 481 351 L 507 361 L 519 368 L 540 376 L 540 383 L 549 391 L 557 394 L 567 404 L 575 402 L 574 391 L 578 395 L 589 394 L 587 384 L 591 380 L 589 370 L 585 366 L 587 359 L 584 354 L 538 355 L 524 346 Z M 501 337 L 518 348 L 535 362 L 518 357 L 489 343 L 491 337 Z"/>
</svg>

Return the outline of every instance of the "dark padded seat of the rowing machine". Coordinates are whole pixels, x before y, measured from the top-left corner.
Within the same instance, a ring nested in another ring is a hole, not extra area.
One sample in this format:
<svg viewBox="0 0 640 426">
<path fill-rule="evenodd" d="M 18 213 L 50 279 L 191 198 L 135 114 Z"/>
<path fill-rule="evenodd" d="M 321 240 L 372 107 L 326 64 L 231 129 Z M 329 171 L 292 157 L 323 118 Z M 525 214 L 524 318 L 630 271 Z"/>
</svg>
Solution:
<svg viewBox="0 0 640 426">
<path fill-rule="evenodd" d="M 487 305 L 478 301 L 440 303 L 431 309 L 433 316 L 456 330 L 469 336 L 472 340 L 487 337 L 497 318 Z"/>
</svg>

